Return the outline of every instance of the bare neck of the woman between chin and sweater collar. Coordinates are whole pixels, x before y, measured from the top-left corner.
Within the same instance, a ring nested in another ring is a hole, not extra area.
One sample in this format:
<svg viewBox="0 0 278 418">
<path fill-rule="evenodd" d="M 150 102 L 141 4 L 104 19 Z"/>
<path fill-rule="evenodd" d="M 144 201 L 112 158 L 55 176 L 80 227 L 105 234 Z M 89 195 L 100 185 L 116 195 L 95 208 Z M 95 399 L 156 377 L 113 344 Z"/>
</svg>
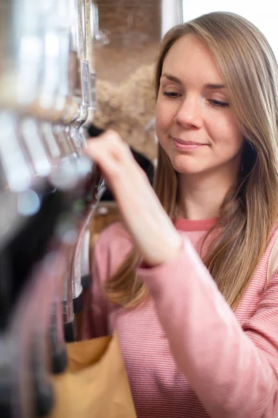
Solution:
<svg viewBox="0 0 278 418">
<path fill-rule="evenodd" d="M 192 220 L 220 216 L 220 207 L 231 188 L 231 178 L 224 176 L 186 176 L 179 174 L 179 214 Z"/>
</svg>

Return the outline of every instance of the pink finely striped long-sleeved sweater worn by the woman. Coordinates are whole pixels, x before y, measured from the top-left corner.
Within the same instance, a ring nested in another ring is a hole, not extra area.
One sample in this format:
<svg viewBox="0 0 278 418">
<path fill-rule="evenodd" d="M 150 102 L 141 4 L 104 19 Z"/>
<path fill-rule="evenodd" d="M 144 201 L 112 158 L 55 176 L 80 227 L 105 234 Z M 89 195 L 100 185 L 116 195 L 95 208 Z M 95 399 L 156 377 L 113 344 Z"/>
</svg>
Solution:
<svg viewBox="0 0 278 418">
<path fill-rule="evenodd" d="M 278 228 L 233 313 L 198 256 L 213 222 L 177 220 L 183 251 L 171 263 L 138 269 L 152 299 L 133 310 L 108 304 L 103 292 L 131 249 L 129 235 L 113 224 L 95 247 L 83 336 L 117 329 L 138 418 L 275 416 L 278 271 L 266 277 Z"/>
</svg>

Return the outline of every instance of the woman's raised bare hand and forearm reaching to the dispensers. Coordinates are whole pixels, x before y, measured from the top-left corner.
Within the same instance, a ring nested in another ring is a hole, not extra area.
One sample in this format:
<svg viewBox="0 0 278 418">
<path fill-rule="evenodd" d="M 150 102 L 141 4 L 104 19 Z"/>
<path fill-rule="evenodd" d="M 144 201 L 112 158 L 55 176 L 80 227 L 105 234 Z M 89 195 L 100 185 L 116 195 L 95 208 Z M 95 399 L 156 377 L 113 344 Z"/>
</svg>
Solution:
<svg viewBox="0 0 278 418">
<path fill-rule="evenodd" d="M 177 256 L 181 236 L 129 146 L 110 130 L 90 140 L 86 153 L 99 164 L 143 261 L 154 266 Z"/>
</svg>

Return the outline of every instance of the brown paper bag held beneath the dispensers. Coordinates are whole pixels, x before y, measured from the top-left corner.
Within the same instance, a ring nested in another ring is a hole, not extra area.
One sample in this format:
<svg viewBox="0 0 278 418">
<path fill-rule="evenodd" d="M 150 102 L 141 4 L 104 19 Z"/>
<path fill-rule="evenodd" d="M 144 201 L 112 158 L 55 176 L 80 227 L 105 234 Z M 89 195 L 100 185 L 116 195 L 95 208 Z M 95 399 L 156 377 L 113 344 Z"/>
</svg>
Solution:
<svg viewBox="0 0 278 418">
<path fill-rule="evenodd" d="M 136 418 L 117 334 L 68 343 L 51 418 Z"/>
</svg>

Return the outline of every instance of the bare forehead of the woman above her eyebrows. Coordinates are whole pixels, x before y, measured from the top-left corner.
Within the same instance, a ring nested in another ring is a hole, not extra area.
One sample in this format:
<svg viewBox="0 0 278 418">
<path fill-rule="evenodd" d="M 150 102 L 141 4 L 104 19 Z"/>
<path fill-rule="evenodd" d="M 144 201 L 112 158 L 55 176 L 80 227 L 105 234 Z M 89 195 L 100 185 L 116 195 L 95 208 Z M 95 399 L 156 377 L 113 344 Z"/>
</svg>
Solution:
<svg viewBox="0 0 278 418">
<path fill-rule="evenodd" d="M 163 72 L 179 77 L 184 82 L 223 82 L 210 50 L 191 33 L 182 36 L 172 45 L 163 62 Z"/>
</svg>

